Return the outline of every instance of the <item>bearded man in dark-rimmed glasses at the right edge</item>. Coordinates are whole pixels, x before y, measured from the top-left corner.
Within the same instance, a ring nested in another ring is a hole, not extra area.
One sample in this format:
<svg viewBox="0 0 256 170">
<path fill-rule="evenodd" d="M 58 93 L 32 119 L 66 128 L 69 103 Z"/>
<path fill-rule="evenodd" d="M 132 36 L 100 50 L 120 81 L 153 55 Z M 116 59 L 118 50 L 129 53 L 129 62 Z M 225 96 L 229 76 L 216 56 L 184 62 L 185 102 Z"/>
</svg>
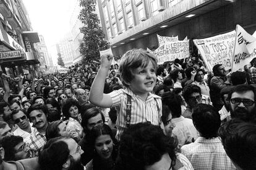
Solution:
<svg viewBox="0 0 256 170">
<path fill-rule="evenodd" d="M 251 85 L 237 85 L 228 96 L 231 104 L 231 118 L 246 122 L 256 121 L 255 88 Z"/>
</svg>

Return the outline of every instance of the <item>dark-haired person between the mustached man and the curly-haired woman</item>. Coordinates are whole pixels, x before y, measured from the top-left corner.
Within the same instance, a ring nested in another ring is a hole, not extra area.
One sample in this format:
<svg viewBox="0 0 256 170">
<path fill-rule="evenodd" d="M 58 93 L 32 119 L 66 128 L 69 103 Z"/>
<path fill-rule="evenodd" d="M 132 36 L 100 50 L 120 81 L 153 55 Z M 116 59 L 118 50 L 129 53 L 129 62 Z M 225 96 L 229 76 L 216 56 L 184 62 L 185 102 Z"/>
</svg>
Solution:
<svg viewBox="0 0 256 170">
<path fill-rule="evenodd" d="M 59 105 L 58 101 L 56 101 L 54 98 L 48 98 L 45 101 L 45 104 L 49 110 L 49 117 L 48 121 L 58 121 L 61 119 L 61 106 Z"/>
</svg>

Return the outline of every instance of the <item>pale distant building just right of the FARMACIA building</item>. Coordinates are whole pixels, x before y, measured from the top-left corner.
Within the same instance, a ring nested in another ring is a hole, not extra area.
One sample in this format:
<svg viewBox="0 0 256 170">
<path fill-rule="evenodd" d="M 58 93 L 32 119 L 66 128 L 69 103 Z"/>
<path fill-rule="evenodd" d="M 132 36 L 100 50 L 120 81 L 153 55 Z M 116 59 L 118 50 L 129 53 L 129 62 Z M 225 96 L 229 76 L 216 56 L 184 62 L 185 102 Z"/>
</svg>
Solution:
<svg viewBox="0 0 256 170">
<path fill-rule="evenodd" d="M 35 48 L 39 53 L 40 69 L 46 69 L 49 66 L 53 66 L 53 60 L 49 56 L 47 46 L 45 44 L 45 38 L 43 35 L 39 35 L 40 43 L 35 44 Z"/>
</svg>

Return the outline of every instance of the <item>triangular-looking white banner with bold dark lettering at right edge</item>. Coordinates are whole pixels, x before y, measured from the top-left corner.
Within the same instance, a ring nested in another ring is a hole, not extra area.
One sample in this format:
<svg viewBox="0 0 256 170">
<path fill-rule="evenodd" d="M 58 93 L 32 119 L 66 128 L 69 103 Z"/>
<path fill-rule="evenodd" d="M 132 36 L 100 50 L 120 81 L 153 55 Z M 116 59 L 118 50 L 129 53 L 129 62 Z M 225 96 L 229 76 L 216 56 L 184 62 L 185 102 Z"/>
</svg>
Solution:
<svg viewBox="0 0 256 170">
<path fill-rule="evenodd" d="M 233 54 L 233 65 L 232 71 L 244 70 L 244 66 L 249 64 L 254 57 L 255 53 L 249 53 L 248 45 L 256 41 L 256 38 L 249 33 L 247 33 L 244 28 L 240 25 L 236 25 L 236 40 L 234 45 L 234 54 Z M 256 48 L 252 46 L 250 48 Z"/>
</svg>

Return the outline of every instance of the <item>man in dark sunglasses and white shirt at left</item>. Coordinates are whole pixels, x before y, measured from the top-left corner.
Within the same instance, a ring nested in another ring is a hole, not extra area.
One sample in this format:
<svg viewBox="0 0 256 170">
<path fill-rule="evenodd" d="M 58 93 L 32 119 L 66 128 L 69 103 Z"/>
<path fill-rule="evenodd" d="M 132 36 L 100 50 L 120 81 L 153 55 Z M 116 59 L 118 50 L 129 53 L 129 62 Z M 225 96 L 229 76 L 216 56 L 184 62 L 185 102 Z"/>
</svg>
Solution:
<svg viewBox="0 0 256 170">
<path fill-rule="evenodd" d="M 28 121 L 25 111 L 12 111 L 11 118 L 18 125 L 18 128 L 14 130 L 15 136 L 21 136 L 25 139 L 32 133 L 33 127 Z"/>
</svg>

